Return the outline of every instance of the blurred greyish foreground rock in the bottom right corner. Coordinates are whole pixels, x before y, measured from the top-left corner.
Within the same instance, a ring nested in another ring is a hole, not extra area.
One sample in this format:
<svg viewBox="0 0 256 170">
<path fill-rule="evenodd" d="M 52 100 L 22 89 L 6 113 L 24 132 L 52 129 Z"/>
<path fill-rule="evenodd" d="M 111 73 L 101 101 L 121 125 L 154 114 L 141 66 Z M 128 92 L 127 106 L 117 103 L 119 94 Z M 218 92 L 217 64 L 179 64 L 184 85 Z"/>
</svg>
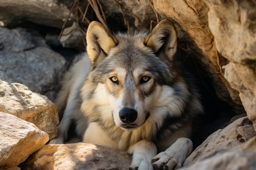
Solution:
<svg viewBox="0 0 256 170">
<path fill-rule="evenodd" d="M 180 170 L 255 170 L 256 137 L 229 150 L 217 150 L 207 158 Z"/>
</svg>

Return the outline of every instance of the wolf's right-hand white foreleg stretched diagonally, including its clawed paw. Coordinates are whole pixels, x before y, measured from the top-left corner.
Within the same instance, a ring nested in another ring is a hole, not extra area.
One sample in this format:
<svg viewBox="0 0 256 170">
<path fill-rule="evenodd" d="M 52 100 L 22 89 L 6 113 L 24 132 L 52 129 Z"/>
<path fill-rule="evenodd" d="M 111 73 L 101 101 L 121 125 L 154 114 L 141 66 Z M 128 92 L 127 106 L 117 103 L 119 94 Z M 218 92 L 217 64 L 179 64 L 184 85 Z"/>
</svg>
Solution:
<svg viewBox="0 0 256 170">
<path fill-rule="evenodd" d="M 173 170 L 180 168 L 191 154 L 193 143 L 190 139 L 181 137 L 164 152 L 152 158 L 154 170 Z"/>
</svg>

